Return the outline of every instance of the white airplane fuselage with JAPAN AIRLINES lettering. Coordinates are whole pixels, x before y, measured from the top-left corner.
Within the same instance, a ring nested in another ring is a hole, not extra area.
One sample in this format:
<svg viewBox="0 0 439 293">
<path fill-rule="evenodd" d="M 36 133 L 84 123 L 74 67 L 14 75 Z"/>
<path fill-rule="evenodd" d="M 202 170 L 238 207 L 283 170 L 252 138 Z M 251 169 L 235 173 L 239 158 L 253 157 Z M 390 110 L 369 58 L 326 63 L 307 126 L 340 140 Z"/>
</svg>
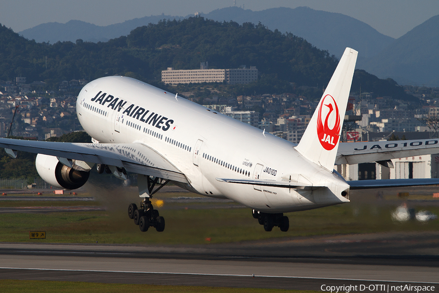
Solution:
<svg viewBox="0 0 439 293">
<path fill-rule="evenodd" d="M 97 141 L 150 146 L 185 174 L 190 190 L 206 196 L 272 213 L 349 201 L 341 196 L 349 188 L 344 179 L 301 156 L 295 144 L 131 78 L 105 77 L 85 85 L 77 112 Z M 262 187 L 217 178 L 325 187 Z"/>
</svg>

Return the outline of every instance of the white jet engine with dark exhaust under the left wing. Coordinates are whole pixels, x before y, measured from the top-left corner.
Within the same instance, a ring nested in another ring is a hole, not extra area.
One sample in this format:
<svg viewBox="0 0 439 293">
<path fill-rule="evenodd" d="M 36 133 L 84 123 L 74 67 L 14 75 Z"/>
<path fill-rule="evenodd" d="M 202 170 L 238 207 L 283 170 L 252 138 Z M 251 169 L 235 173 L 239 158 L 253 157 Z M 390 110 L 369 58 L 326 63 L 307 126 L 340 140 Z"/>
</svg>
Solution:
<svg viewBox="0 0 439 293">
<path fill-rule="evenodd" d="M 38 154 L 35 160 L 41 178 L 56 187 L 80 188 L 87 182 L 90 172 L 75 170 L 60 163 L 57 157 Z"/>
</svg>

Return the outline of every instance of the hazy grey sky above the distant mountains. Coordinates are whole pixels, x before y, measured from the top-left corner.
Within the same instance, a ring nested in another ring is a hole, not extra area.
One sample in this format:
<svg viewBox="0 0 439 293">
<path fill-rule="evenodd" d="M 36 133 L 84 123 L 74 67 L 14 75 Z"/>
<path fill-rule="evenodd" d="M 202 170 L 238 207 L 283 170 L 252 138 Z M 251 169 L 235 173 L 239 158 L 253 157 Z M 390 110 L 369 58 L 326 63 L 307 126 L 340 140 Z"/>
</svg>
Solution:
<svg viewBox="0 0 439 293">
<path fill-rule="evenodd" d="M 186 16 L 229 6 L 253 11 L 308 6 L 338 12 L 399 38 L 439 14 L 438 0 L 0 0 L 0 23 L 15 32 L 45 22 L 80 20 L 108 25 L 144 16 Z"/>
</svg>

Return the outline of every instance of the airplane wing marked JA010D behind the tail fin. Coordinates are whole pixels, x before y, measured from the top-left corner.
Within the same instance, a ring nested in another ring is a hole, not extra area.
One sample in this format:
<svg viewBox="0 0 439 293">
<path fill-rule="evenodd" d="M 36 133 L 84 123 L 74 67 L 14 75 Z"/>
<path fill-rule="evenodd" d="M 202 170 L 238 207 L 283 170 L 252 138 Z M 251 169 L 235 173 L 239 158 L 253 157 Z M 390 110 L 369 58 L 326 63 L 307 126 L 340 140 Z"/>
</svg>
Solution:
<svg viewBox="0 0 439 293">
<path fill-rule="evenodd" d="M 397 158 L 437 154 L 438 139 L 340 143 L 336 165 L 388 161 Z"/>
</svg>

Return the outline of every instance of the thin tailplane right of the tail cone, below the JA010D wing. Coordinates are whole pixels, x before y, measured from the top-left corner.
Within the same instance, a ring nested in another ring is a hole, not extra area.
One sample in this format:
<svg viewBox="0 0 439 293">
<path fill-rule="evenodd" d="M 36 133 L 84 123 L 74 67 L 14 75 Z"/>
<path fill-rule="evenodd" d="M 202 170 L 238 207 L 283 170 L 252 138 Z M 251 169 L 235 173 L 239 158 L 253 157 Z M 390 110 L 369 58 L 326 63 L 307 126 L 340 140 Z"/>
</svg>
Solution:
<svg viewBox="0 0 439 293">
<path fill-rule="evenodd" d="M 353 189 L 370 189 L 370 188 L 389 188 L 389 187 L 406 187 L 421 185 L 439 184 L 439 178 L 427 179 L 381 179 L 381 180 L 356 180 L 346 181 Z"/>
</svg>

